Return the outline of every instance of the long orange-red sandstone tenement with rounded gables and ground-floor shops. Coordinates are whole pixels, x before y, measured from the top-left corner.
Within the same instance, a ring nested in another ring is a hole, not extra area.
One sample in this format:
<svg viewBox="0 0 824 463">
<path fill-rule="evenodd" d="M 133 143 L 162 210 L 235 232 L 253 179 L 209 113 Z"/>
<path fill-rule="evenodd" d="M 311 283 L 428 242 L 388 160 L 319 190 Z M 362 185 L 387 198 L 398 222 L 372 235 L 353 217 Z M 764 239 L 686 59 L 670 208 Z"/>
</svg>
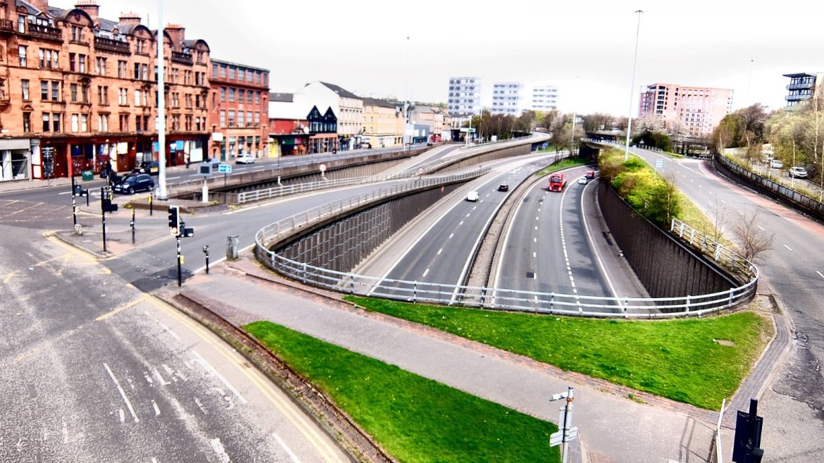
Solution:
<svg viewBox="0 0 824 463">
<path fill-rule="evenodd" d="M 2 180 L 120 171 L 202 156 L 208 141 L 209 48 L 164 30 L 166 146 L 157 143 L 157 31 L 125 13 L 99 16 L 93 0 L 70 10 L 48 0 L 0 2 Z M 13 59 L 12 59 L 13 54 Z"/>
</svg>

